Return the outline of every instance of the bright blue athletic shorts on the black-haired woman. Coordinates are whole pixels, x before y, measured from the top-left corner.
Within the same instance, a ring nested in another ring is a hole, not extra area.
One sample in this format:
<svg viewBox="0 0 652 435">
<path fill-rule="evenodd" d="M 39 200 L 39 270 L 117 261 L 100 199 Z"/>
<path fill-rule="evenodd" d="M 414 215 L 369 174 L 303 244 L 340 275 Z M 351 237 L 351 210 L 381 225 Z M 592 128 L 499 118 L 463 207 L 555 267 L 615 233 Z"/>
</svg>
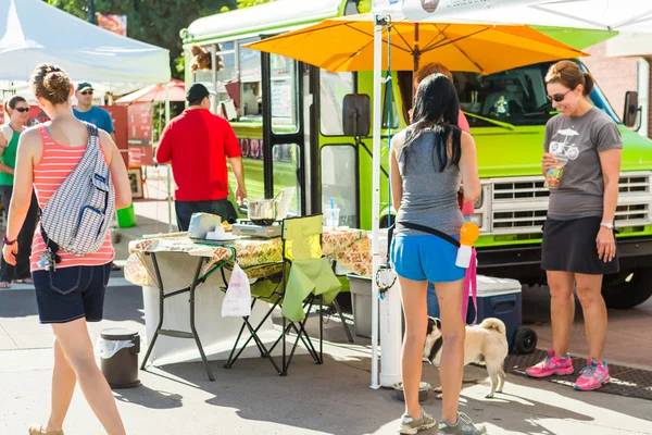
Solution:
<svg viewBox="0 0 652 435">
<path fill-rule="evenodd" d="M 453 236 L 459 238 L 457 236 Z M 451 283 L 460 281 L 466 269 L 457 268 L 457 247 L 434 235 L 398 234 L 391 241 L 391 264 L 399 276 L 412 281 Z"/>
</svg>

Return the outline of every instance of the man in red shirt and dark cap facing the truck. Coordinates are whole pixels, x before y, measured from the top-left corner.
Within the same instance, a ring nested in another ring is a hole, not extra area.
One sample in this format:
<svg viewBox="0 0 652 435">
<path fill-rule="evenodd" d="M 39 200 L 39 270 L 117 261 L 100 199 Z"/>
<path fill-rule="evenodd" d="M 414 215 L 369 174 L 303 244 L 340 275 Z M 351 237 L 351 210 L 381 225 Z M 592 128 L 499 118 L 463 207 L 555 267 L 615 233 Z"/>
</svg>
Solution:
<svg viewBox="0 0 652 435">
<path fill-rule="evenodd" d="M 227 158 L 237 181 L 236 200 L 241 203 L 247 197 L 240 144 L 230 124 L 210 112 L 209 96 L 201 84 L 190 87 L 189 108 L 167 124 L 156 150 L 159 163 L 172 164 L 179 231 L 188 231 L 192 213 L 218 214 L 229 222 L 237 219 L 227 200 Z"/>
</svg>

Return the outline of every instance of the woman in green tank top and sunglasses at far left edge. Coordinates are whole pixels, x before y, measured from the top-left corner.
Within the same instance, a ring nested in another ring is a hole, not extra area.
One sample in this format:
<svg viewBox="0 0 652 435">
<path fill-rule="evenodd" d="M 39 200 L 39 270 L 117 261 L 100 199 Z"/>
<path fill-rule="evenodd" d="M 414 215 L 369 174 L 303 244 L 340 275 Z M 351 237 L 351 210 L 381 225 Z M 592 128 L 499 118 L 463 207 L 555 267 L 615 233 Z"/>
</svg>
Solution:
<svg viewBox="0 0 652 435">
<path fill-rule="evenodd" d="M 25 129 L 29 105 L 20 96 L 4 101 L 4 114 L 9 123 L 0 127 L 0 200 L 4 207 L 4 216 L 9 213 L 11 197 L 14 188 L 14 167 L 18 151 L 18 138 Z M 25 223 L 18 234 L 18 254 L 15 266 L 1 259 L 0 288 L 10 288 L 11 283 L 32 284 L 29 272 L 29 254 L 32 253 L 32 238 L 38 221 L 38 202 L 34 194 L 25 216 Z"/>
</svg>

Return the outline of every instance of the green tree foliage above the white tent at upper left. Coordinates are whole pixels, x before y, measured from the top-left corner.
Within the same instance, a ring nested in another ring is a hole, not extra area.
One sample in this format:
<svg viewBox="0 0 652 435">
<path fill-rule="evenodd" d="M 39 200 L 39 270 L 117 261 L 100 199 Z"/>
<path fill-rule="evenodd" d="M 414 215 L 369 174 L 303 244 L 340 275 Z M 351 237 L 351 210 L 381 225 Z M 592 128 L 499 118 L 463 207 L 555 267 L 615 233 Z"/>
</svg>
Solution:
<svg viewBox="0 0 652 435">
<path fill-rule="evenodd" d="M 88 20 L 89 0 L 43 0 Z M 260 0 L 248 0 L 258 3 Z M 228 8 L 240 7 L 241 0 L 95 0 L 96 13 L 127 15 L 127 36 L 170 50 L 172 75 L 183 78 L 178 58 L 183 55 L 179 32 L 195 20 Z"/>
</svg>

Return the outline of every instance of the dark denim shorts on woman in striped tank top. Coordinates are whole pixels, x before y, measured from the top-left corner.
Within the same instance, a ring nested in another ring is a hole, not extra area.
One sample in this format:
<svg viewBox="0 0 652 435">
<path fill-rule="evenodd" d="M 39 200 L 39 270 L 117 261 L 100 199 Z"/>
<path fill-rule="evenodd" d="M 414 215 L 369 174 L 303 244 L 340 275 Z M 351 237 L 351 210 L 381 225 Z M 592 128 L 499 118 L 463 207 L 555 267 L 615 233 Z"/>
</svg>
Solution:
<svg viewBox="0 0 652 435">
<path fill-rule="evenodd" d="M 110 275 L 111 263 L 34 272 L 40 323 L 66 323 L 82 318 L 87 322 L 101 321 Z"/>
</svg>

